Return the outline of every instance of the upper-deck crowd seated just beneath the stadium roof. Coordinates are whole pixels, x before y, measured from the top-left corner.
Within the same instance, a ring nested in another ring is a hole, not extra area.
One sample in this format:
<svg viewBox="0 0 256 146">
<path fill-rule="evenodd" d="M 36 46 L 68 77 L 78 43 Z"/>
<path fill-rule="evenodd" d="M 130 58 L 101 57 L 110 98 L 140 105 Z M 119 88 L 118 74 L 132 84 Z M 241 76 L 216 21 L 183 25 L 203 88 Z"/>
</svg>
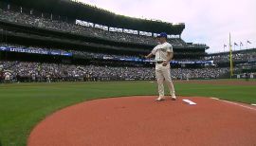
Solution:
<svg viewBox="0 0 256 146">
<path fill-rule="evenodd" d="M 0 20 L 23 24 L 32 27 L 42 27 L 52 30 L 68 31 L 85 36 L 97 37 L 111 41 L 119 41 L 133 44 L 156 45 L 154 37 L 142 36 L 137 34 L 129 34 L 123 32 L 113 32 L 95 27 L 84 27 L 74 23 L 67 23 L 61 20 L 46 18 L 43 15 L 37 17 L 33 14 L 17 12 L 11 9 L 0 9 Z M 187 44 L 180 38 L 170 38 L 168 42 L 174 46 L 186 46 Z"/>
</svg>

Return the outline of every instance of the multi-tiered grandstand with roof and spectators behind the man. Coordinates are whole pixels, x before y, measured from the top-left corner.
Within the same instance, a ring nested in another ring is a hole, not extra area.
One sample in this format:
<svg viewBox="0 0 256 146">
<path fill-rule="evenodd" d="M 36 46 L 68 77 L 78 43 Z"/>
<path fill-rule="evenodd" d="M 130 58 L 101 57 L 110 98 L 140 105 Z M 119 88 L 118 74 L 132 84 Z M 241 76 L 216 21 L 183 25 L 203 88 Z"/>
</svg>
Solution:
<svg viewBox="0 0 256 146">
<path fill-rule="evenodd" d="M 174 46 L 174 79 L 227 74 L 229 61 L 208 55 L 209 46 L 186 43 L 184 28 L 183 23 L 131 18 L 69 0 L 1 1 L 0 70 L 9 70 L 17 82 L 46 82 L 49 76 L 56 82 L 154 80 L 154 61 L 141 56 L 165 31 Z"/>
</svg>

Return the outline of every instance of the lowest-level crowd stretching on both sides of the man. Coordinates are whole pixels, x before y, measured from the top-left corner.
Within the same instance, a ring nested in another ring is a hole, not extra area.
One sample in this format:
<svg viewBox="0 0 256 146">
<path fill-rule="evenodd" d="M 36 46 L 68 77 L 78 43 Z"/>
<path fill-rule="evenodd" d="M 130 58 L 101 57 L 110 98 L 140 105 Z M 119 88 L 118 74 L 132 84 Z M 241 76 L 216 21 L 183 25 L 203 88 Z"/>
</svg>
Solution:
<svg viewBox="0 0 256 146">
<path fill-rule="evenodd" d="M 9 72 L 13 81 L 115 81 L 155 80 L 154 67 L 97 66 L 74 64 L 46 64 L 28 62 L 0 62 L 0 70 Z M 173 79 L 215 79 L 229 68 L 173 68 Z"/>
</svg>

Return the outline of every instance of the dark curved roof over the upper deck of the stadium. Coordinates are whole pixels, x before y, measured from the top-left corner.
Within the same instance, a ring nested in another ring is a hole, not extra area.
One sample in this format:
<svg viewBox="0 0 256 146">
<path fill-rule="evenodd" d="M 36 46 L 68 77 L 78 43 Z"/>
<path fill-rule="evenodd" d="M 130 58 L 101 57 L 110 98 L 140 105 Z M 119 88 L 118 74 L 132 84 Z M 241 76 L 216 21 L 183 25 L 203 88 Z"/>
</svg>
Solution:
<svg viewBox="0 0 256 146">
<path fill-rule="evenodd" d="M 170 35 L 180 35 L 185 28 L 184 23 L 172 24 L 161 21 L 133 18 L 115 14 L 105 9 L 99 9 L 71 0 L 4 0 L 10 4 L 27 9 L 37 9 L 47 13 L 60 14 L 73 19 L 99 24 L 107 27 L 119 27 L 146 32 L 167 32 Z"/>
</svg>

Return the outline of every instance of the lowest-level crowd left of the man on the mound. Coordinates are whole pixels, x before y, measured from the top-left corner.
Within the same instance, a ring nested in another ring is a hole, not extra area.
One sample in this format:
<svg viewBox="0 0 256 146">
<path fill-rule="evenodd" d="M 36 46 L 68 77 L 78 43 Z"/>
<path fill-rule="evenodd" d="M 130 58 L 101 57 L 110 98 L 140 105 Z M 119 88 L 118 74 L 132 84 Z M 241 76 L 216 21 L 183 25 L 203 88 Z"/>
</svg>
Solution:
<svg viewBox="0 0 256 146">
<path fill-rule="evenodd" d="M 9 71 L 16 80 L 46 81 L 113 81 L 152 80 L 152 69 L 140 67 L 113 67 L 73 64 L 41 64 L 27 62 L 0 62 L 3 70 Z M 18 76 L 18 78 L 17 78 Z"/>
</svg>

